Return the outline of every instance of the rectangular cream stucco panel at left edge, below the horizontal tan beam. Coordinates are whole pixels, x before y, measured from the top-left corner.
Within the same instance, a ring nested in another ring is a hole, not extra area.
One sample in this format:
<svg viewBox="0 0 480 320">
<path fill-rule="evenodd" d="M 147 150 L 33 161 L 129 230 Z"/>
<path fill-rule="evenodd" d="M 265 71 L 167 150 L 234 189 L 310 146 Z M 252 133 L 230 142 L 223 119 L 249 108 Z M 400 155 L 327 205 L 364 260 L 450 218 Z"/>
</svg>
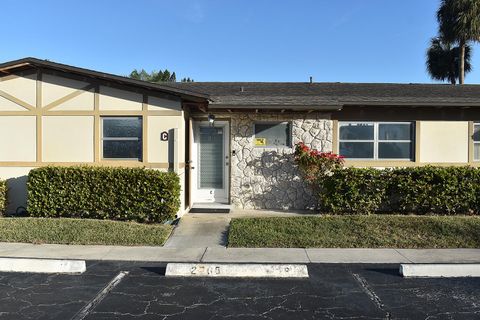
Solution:
<svg viewBox="0 0 480 320">
<path fill-rule="evenodd" d="M 36 117 L 1 116 L 0 161 L 36 160 Z"/>
</svg>

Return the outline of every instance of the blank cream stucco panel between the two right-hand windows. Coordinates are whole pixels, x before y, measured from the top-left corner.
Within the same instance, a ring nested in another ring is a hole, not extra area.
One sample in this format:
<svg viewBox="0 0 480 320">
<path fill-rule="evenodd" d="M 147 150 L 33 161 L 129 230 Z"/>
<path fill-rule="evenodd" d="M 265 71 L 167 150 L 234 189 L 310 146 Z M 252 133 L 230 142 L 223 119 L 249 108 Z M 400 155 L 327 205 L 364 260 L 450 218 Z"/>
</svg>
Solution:
<svg viewBox="0 0 480 320">
<path fill-rule="evenodd" d="M 420 162 L 467 163 L 467 121 L 421 121 Z"/>
</svg>

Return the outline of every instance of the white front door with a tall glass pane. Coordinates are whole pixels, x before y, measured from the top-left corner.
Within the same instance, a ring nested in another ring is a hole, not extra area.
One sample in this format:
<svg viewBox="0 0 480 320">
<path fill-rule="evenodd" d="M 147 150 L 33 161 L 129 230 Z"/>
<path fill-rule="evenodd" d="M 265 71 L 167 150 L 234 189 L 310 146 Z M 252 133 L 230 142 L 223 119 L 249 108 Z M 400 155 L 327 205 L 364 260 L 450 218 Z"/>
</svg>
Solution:
<svg viewBox="0 0 480 320">
<path fill-rule="evenodd" d="M 192 198 L 194 203 L 228 203 L 229 139 L 227 121 L 193 123 Z"/>
</svg>

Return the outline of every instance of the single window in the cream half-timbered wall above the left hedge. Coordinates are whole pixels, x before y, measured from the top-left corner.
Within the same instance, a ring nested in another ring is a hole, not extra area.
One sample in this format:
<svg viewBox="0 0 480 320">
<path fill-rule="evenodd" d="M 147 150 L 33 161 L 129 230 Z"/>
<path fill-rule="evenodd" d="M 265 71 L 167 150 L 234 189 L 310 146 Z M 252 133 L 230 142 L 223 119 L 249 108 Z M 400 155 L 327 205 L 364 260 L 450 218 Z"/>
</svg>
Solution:
<svg viewBox="0 0 480 320">
<path fill-rule="evenodd" d="M 142 159 L 142 119 L 102 118 L 103 159 Z"/>
</svg>

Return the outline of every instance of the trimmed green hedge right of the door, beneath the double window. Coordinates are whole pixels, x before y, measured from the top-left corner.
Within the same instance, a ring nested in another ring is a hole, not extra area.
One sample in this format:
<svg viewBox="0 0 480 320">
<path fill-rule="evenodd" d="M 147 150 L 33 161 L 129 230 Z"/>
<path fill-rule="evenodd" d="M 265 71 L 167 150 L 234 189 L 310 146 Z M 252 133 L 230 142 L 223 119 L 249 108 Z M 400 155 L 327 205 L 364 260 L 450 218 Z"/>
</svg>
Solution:
<svg viewBox="0 0 480 320">
<path fill-rule="evenodd" d="M 480 213 L 480 170 L 472 167 L 345 168 L 318 183 L 324 212 Z"/>
</svg>

